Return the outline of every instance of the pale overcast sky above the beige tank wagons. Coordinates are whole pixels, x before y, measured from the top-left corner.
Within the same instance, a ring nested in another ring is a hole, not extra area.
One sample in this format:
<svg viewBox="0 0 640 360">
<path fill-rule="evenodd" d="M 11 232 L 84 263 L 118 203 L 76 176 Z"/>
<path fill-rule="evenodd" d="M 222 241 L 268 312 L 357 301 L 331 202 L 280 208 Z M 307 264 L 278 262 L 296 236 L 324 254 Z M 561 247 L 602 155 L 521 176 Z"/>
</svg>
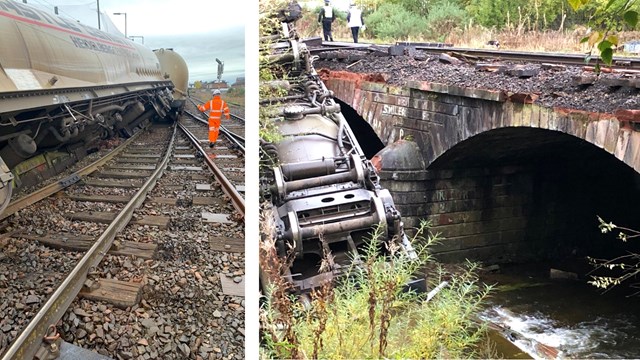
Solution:
<svg viewBox="0 0 640 360">
<path fill-rule="evenodd" d="M 65 6 L 84 5 L 95 11 L 91 0 L 27 0 L 29 4 L 60 7 L 60 15 L 73 17 L 97 27 L 97 15 L 78 18 L 78 11 Z M 74 7 L 75 8 L 75 7 Z M 217 78 L 216 58 L 224 61 L 223 80 L 234 83 L 245 76 L 244 1 L 239 0 L 100 0 L 100 11 L 111 18 L 124 33 L 127 13 L 127 35 L 144 36 L 150 49 L 173 48 L 189 66 L 189 81 Z M 134 39 L 141 42 L 140 38 Z"/>
</svg>

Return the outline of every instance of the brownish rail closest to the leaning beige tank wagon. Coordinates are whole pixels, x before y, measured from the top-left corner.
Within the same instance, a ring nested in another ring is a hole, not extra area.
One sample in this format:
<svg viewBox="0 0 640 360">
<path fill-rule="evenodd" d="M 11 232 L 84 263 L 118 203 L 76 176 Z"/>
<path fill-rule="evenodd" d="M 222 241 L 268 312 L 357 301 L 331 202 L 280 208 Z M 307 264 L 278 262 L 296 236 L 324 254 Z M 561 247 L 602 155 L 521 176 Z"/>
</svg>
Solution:
<svg viewBox="0 0 640 360">
<path fill-rule="evenodd" d="M 71 185 L 73 185 L 74 183 L 76 183 L 77 181 L 81 180 L 83 177 L 91 174 L 92 172 L 96 171 L 100 166 L 104 165 L 105 163 L 107 163 L 109 160 L 113 159 L 116 155 L 120 154 L 127 146 L 129 146 L 129 144 L 131 144 L 133 141 L 135 141 L 135 139 L 138 138 L 139 134 L 141 134 L 142 132 L 139 131 L 137 133 L 135 133 L 132 137 L 130 137 L 129 139 L 127 139 L 127 141 L 123 142 L 122 144 L 120 144 L 120 146 L 118 146 L 117 148 L 113 149 L 110 153 L 108 153 L 106 156 L 94 161 L 93 163 L 85 166 L 84 168 L 74 172 L 73 174 L 69 175 L 68 177 L 52 183 L 50 185 L 47 185 L 45 187 L 43 187 L 42 189 L 39 189 L 37 191 L 32 192 L 31 194 L 25 195 L 19 199 L 16 199 L 12 202 L 9 203 L 9 205 L 7 206 L 7 208 L 4 210 L 4 212 L 2 214 L 0 214 L 0 220 L 4 220 L 6 218 L 8 218 L 9 216 L 15 214 L 16 212 L 26 208 L 27 206 L 33 205 L 35 203 L 37 203 L 38 201 L 45 199 L 55 193 L 57 193 L 60 190 L 63 190 Z M 75 179 L 74 179 L 75 177 Z M 66 179 L 74 179 L 72 181 L 65 181 Z"/>
</svg>

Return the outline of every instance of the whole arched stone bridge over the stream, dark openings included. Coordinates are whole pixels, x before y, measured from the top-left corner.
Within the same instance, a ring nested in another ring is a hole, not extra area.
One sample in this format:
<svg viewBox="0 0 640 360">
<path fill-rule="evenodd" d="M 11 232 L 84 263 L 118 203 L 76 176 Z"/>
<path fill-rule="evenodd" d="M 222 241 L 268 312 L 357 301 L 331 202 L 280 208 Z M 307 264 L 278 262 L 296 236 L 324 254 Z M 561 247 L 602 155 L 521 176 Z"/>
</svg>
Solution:
<svg viewBox="0 0 640 360">
<path fill-rule="evenodd" d="M 640 110 L 551 109 L 524 95 L 320 70 L 405 226 L 443 261 L 608 256 L 597 216 L 640 229 Z M 608 237 L 607 237 L 608 236 Z"/>
</svg>

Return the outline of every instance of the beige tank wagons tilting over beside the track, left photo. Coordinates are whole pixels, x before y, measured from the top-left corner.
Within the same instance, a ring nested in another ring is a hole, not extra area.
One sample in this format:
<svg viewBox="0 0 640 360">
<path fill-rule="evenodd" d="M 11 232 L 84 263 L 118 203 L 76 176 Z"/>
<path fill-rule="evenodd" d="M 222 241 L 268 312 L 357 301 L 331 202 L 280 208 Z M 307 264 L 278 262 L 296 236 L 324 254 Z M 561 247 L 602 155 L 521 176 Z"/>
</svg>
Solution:
<svg viewBox="0 0 640 360">
<path fill-rule="evenodd" d="M 98 139 L 131 136 L 152 120 L 175 120 L 188 69 L 171 50 L 157 54 L 0 0 L 0 204 L 8 203 L 12 181 L 21 186 L 42 178 L 26 176 L 28 166 L 17 168 L 28 159 L 52 151 L 77 159 Z"/>
</svg>

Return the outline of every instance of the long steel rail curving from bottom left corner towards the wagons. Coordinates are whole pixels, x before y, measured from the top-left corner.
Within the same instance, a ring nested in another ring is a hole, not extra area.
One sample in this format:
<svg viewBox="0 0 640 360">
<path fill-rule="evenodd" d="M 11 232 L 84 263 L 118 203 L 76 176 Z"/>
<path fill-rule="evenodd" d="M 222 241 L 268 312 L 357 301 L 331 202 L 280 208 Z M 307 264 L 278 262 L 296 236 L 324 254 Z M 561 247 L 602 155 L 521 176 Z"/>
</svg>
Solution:
<svg viewBox="0 0 640 360">
<path fill-rule="evenodd" d="M 105 232 L 96 240 L 91 249 L 80 259 L 69 276 L 58 286 L 44 306 L 31 319 L 27 327 L 4 354 L 3 360 L 33 358 L 40 348 L 42 338 L 47 334 L 49 326 L 55 325 L 62 318 L 80 290 L 82 290 L 89 271 L 97 266 L 107 254 L 116 235 L 127 226 L 134 210 L 142 205 L 149 191 L 153 189 L 158 179 L 162 176 L 169 159 L 171 159 L 171 149 L 173 148 L 176 129 L 177 127 L 174 126 L 169 147 L 158 168 L 142 185 L 140 190 L 136 192 L 131 201 L 120 211 Z"/>
</svg>

